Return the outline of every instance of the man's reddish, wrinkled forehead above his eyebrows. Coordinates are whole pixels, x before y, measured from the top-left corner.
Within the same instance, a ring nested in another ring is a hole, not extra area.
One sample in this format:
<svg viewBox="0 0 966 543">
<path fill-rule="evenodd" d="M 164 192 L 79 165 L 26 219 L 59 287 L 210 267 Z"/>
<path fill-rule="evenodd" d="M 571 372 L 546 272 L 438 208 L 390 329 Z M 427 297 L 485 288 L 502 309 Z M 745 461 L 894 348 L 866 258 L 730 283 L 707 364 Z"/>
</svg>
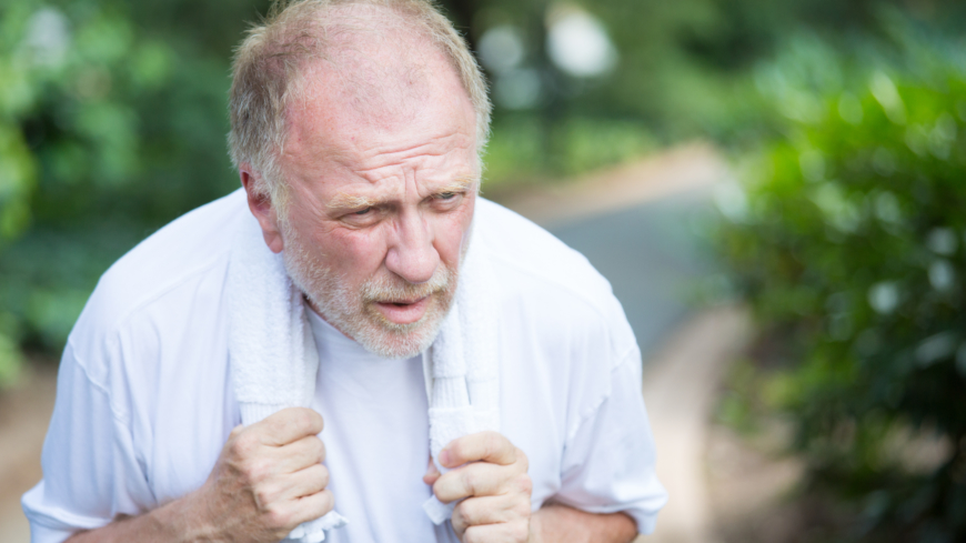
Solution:
<svg viewBox="0 0 966 543">
<path fill-rule="evenodd" d="M 434 142 L 475 145 L 472 103 L 442 54 L 386 62 L 393 63 L 390 53 L 365 57 L 352 70 L 328 59 L 305 67 L 302 89 L 286 110 L 284 160 L 391 155 Z"/>
</svg>

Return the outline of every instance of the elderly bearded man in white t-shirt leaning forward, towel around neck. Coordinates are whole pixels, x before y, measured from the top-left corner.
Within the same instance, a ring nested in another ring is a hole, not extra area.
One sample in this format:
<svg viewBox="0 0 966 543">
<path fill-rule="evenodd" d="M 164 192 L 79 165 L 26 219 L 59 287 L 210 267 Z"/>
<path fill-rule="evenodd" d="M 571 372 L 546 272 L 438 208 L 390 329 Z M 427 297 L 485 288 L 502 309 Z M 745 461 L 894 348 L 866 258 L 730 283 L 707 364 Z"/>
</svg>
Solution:
<svg viewBox="0 0 966 543">
<path fill-rule="evenodd" d="M 445 18 L 290 2 L 231 115 L 243 191 L 121 259 L 71 333 L 34 542 L 653 530 L 633 334 L 582 257 L 477 198 L 490 105 Z"/>
</svg>

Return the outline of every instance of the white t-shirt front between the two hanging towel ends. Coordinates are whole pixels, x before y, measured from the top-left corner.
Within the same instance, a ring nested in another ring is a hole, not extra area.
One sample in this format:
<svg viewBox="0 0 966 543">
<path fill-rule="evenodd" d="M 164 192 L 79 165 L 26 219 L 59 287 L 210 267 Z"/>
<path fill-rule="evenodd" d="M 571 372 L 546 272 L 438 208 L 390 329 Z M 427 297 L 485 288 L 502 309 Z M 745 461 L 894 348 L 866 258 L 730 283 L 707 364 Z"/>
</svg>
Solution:
<svg viewBox="0 0 966 543">
<path fill-rule="evenodd" d="M 320 436 L 329 490 L 338 511 L 350 520 L 325 541 L 435 541 L 434 525 L 422 507 L 432 495 L 423 483 L 430 420 L 422 356 L 382 359 L 314 311 L 309 322 L 319 348 L 312 409 L 325 421 Z"/>
</svg>

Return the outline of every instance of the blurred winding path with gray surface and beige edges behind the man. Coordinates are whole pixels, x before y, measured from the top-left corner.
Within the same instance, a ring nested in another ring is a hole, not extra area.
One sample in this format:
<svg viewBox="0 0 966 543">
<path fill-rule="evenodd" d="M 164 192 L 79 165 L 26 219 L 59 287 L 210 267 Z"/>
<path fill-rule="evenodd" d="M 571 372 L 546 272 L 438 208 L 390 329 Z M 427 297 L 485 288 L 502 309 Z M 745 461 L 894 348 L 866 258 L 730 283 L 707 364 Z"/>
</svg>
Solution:
<svg viewBox="0 0 966 543">
<path fill-rule="evenodd" d="M 749 332 L 735 308 L 688 302 L 714 268 L 694 224 L 726 175 L 703 145 L 505 202 L 581 251 L 611 282 L 644 353 L 644 401 L 671 500 L 640 543 L 715 543 L 705 450 L 721 374 Z"/>
</svg>

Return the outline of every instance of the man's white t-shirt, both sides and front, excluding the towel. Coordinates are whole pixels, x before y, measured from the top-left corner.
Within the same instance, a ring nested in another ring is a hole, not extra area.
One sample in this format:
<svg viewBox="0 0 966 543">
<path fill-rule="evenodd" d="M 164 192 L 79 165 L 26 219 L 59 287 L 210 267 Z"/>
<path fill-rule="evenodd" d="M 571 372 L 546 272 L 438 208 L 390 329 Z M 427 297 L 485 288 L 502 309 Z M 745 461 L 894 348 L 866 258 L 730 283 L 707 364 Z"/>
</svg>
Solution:
<svg viewBox="0 0 966 543">
<path fill-rule="evenodd" d="M 43 480 L 23 496 L 34 543 L 144 513 L 204 483 L 241 422 L 224 281 L 232 237 L 251 220 L 235 191 L 161 229 L 101 278 L 64 349 Z M 530 460 L 534 510 L 553 499 L 592 513 L 624 511 L 651 532 L 666 494 L 654 474 L 640 350 L 610 284 L 504 208 L 481 199 L 474 221 L 472 242 L 497 282 L 501 431 Z M 319 324 L 316 340 L 326 344 L 314 406 L 326 420 L 336 507 L 351 523 L 330 537 L 456 541 L 449 524 L 427 527 L 421 510 L 430 492 L 421 481 L 429 460 L 421 366 L 363 360 L 380 373 L 362 386 L 370 376 L 348 368 L 354 355 Z M 393 426 L 396 418 L 405 430 Z M 373 425 L 392 438 L 381 440 Z M 382 443 L 364 445 L 373 441 Z M 386 466 L 398 479 L 381 487 L 376 474 Z"/>
</svg>

